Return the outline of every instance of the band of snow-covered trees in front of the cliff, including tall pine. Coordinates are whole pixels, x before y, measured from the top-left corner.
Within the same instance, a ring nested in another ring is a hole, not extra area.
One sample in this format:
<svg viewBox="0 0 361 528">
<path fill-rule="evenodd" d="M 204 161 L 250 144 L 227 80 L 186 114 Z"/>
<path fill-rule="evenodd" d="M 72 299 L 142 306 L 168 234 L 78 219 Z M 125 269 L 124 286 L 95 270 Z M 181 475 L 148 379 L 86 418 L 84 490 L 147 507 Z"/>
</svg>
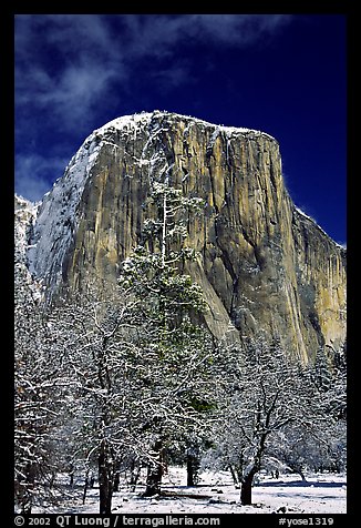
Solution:
<svg viewBox="0 0 361 528">
<path fill-rule="evenodd" d="M 183 219 L 198 214 L 154 183 L 152 217 L 122 263 L 106 298 L 96 283 L 51 305 L 41 302 L 17 254 L 14 491 L 19 511 L 59 496 L 58 477 L 84 476 L 110 514 L 120 477 L 144 496 L 162 494 L 172 457 L 197 483 L 200 459 L 229 470 L 240 500 L 251 504 L 261 469 L 345 466 L 345 362 L 322 347 L 314 363 L 290 359 L 262 332 L 243 345 L 217 342 L 203 323 L 202 290 L 184 273 L 197 258 Z"/>
</svg>

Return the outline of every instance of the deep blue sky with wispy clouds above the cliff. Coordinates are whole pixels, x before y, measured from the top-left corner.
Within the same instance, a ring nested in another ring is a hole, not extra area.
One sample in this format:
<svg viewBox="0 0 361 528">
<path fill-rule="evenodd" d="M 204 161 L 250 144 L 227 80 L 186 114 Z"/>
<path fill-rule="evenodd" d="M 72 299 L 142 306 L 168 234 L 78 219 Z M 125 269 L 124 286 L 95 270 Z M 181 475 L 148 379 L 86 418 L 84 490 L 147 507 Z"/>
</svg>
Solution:
<svg viewBox="0 0 361 528">
<path fill-rule="evenodd" d="M 39 200 L 107 121 L 167 110 L 262 130 L 295 201 L 345 243 L 342 14 L 16 16 L 16 191 Z"/>
</svg>

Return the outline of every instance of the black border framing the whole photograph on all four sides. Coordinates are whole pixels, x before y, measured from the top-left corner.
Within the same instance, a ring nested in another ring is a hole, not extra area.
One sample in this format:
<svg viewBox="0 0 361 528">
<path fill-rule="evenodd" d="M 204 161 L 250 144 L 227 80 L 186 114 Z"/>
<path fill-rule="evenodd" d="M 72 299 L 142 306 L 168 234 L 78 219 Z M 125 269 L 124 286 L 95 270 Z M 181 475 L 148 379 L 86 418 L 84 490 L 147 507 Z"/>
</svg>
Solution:
<svg viewBox="0 0 361 528">
<path fill-rule="evenodd" d="M 0 473 L 0 481 L 7 480 L 9 478 L 10 486 L 7 481 L 3 481 L 4 486 L 1 486 L 1 509 L 0 509 L 0 518 L 2 518 L 3 514 L 11 519 L 11 524 L 9 526 L 13 526 L 13 494 L 12 494 L 12 481 L 13 481 L 13 173 L 14 173 L 14 134 L 13 134 L 13 111 L 14 111 L 14 81 L 13 81 L 13 64 L 14 64 L 14 44 L 13 44 L 13 23 L 14 23 L 14 16 L 16 14 L 25 14 L 25 13 L 80 13 L 82 14 L 82 10 L 84 6 L 82 4 L 81 9 L 76 9 L 74 3 L 71 4 L 69 9 L 62 2 L 59 4 L 60 9 L 56 9 L 54 4 L 49 6 L 39 6 L 38 8 L 32 4 L 21 4 L 21 2 L 14 2 L 11 7 L 1 8 L 1 52 L 2 52 L 2 60 L 1 60 L 1 105 L 2 108 L 2 131 L 3 133 L 1 139 L 1 144 L 3 149 L 2 152 L 2 177 L 1 177 L 1 207 L 0 207 L 0 225 L 2 226 L 2 236 L 1 236 L 1 253 L 2 258 L 0 258 L 1 263 L 1 294 L 2 294 L 2 328 L 4 329 L 6 338 L 2 339 L 2 351 L 4 355 L 4 366 L 1 368 L 3 379 L 1 382 L 1 390 L 3 394 L 1 395 L 1 418 L 4 425 L 2 429 L 2 438 L 6 439 L 6 451 L 2 451 L 2 460 L 6 461 L 6 474 L 3 471 Z M 91 6 L 92 7 L 92 6 Z M 104 6 L 105 7 L 105 6 Z M 121 7 L 121 6 L 120 6 Z M 135 6 L 134 6 L 135 7 Z M 140 6 L 142 8 L 142 6 Z M 182 3 L 180 8 L 188 13 L 189 11 L 193 12 L 203 12 L 203 6 L 200 9 L 196 9 L 196 6 L 192 3 L 192 8 L 188 10 L 186 6 Z M 220 13 L 224 11 L 218 11 L 217 9 L 212 9 L 213 6 L 209 6 L 210 10 L 207 11 L 209 13 Z M 235 4 L 229 6 L 229 10 L 231 14 L 239 14 L 239 12 L 234 12 Z M 271 6 L 265 2 L 257 3 L 254 6 L 256 9 L 247 10 L 248 6 L 245 6 L 243 12 L 262 12 L 262 13 L 277 13 L 277 12 L 287 12 L 289 13 L 290 6 L 280 3 L 279 6 Z M 358 43 L 357 38 L 357 23 L 359 20 L 355 3 L 351 6 L 351 2 L 329 2 L 327 4 L 329 8 L 324 11 L 324 1 L 322 2 L 311 2 L 309 6 L 307 2 L 292 2 L 292 10 L 291 14 L 344 14 L 347 17 L 348 22 L 348 344 L 349 344 L 349 354 L 348 354 L 348 512 L 347 514 L 338 514 L 338 515 L 285 515 L 286 518 L 316 518 L 316 517 L 332 517 L 334 518 L 333 526 L 342 526 L 343 522 L 348 524 L 353 518 L 355 519 L 357 514 L 357 491 L 355 491 L 355 461 L 358 459 L 358 450 L 357 450 L 357 433 L 355 433 L 355 403 L 357 403 L 357 394 L 355 394 L 355 386 L 357 386 L 357 376 L 359 374 L 357 369 L 357 354 L 358 352 L 354 349 L 354 344 L 357 342 L 354 336 L 354 328 L 358 323 L 358 297 L 355 294 L 355 288 L 353 281 L 360 273 L 358 270 L 358 260 L 357 260 L 357 231 L 359 229 L 359 220 L 354 217 L 355 211 L 355 201 L 358 200 L 357 190 L 353 190 L 354 182 L 357 181 L 358 172 L 355 169 L 355 141 L 358 134 L 355 132 L 357 126 L 357 114 L 355 114 L 355 106 L 358 99 L 360 98 L 359 91 L 357 90 L 357 67 L 355 61 L 357 51 L 355 45 Z M 45 9 L 44 9 L 45 8 Z M 130 6 L 128 6 L 130 8 Z M 153 14 L 157 13 L 168 13 L 169 6 L 164 6 L 157 9 L 155 6 L 153 7 Z M 353 8 L 353 9 L 352 9 Z M 122 9 L 122 12 L 125 14 L 131 14 L 134 12 L 132 9 L 131 11 L 126 12 Z M 111 14 L 111 12 L 101 11 L 104 14 Z M 177 11 L 178 12 L 178 11 Z M 85 13 L 83 13 L 85 14 Z M 90 13 L 92 14 L 92 13 Z M 96 14 L 96 13 L 93 13 Z M 151 13 L 152 14 L 152 13 Z M 355 185 L 357 187 L 357 185 Z M 6 229 L 3 229 L 6 226 Z M 2 334 L 3 335 L 3 334 Z M 3 445 L 3 441 L 1 441 Z M 3 468 L 3 465 L 1 465 Z M 255 522 L 255 520 L 261 521 L 265 519 L 265 516 L 259 517 L 257 516 L 254 519 L 252 515 L 248 514 L 239 514 L 240 522 L 243 526 L 247 526 L 247 518 L 250 516 L 250 525 Z M 187 517 L 200 517 L 194 515 L 187 515 Z M 55 515 L 47 515 L 47 516 L 30 516 L 30 517 L 49 517 L 51 518 L 51 526 L 58 526 L 55 521 Z M 81 518 L 92 517 L 97 518 L 100 516 L 81 516 Z M 131 517 L 131 515 L 130 515 Z M 156 516 L 145 516 L 145 517 L 164 517 L 163 515 Z M 174 514 L 174 517 L 182 517 L 179 515 Z M 215 515 L 209 514 L 209 517 L 215 517 Z M 238 515 L 236 515 L 238 518 Z M 228 526 L 229 522 L 236 520 L 234 515 L 230 514 L 220 514 L 219 518 L 221 519 L 220 526 Z M 266 526 L 279 526 L 278 524 L 278 516 L 269 516 L 267 515 L 267 525 Z M 53 524 L 54 522 L 54 524 Z M 249 521 L 248 521 L 249 522 Z M 3 526 L 8 526 L 4 522 Z M 28 526 L 27 524 L 24 526 Z M 72 525 L 69 525 L 72 526 Z M 112 525 L 111 525 L 112 526 Z M 121 526 L 121 525 L 118 525 Z M 138 525 L 140 526 L 140 525 Z M 144 526 L 144 525 L 143 525 Z M 297 526 L 297 525 L 292 525 Z M 299 525 L 302 526 L 302 525 Z"/>
</svg>

